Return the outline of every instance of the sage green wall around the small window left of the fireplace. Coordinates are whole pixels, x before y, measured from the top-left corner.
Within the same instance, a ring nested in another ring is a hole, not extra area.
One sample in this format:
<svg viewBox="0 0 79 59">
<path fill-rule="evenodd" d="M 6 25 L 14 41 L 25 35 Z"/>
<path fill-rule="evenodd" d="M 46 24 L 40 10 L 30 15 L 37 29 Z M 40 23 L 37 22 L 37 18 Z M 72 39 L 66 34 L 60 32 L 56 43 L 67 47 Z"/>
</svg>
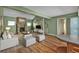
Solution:
<svg viewBox="0 0 79 59">
<path fill-rule="evenodd" d="M 15 21 L 16 22 L 16 18 L 4 16 L 3 19 L 4 19 L 4 30 L 6 27 L 11 27 L 10 31 L 15 33 L 16 32 L 16 24 L 14 26 L 8 26 L 8 21 Z"/>
</svg>

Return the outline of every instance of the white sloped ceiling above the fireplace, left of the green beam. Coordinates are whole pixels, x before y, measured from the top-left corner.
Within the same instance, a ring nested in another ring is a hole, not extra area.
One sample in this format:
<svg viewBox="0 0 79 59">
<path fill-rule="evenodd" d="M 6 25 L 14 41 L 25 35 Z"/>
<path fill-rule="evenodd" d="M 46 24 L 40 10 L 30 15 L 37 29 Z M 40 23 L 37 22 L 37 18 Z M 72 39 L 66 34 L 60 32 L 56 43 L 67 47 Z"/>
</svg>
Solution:
<svg viewBox="0 0 79 59">
<path fill-rule="evenodd" d="M 19 11 L 12 10 L 12 9 L 8 9 L 8 8 L 4 8 L 4 16 L 25 17 L 28 20 L 32 20 L 34 18 L 33 15 L 23 13 L 23 12 L 19 12 Z"/>
</svg>

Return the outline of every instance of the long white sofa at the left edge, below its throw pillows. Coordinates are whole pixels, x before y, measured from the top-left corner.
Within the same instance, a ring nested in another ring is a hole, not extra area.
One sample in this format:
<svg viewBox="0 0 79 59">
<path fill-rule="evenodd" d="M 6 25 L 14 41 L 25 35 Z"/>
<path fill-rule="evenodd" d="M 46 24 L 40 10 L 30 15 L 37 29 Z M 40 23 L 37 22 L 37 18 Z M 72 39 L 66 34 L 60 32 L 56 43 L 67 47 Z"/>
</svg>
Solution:
<svg viewBox="0 0 79 59">
<path fill-rule="evenodd" d="M 14 35 L 12 38 L 0 38 L 0 50 L 4 50 L 19 44 L 18 36 Z"/>
</svg>

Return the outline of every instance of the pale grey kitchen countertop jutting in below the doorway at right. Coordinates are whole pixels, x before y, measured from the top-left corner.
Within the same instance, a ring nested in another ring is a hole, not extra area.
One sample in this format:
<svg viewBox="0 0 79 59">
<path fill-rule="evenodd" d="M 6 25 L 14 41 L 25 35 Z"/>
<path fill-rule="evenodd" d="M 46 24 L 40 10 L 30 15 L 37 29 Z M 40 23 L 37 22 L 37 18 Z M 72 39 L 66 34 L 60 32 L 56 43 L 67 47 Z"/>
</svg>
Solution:
<svg viewBox="0 0 79 59">
<path fill-rule="evenodd" d="M 79 36 L 77 35 L 56 35 L 56 37 L 68 43 L 79 45 Z"/>
</svg>

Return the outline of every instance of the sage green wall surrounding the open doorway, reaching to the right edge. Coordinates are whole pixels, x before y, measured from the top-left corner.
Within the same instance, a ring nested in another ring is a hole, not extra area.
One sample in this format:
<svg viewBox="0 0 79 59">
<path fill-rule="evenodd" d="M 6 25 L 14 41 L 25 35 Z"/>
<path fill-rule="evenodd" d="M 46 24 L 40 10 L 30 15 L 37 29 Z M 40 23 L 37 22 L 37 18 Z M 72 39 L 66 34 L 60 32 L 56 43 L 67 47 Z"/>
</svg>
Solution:
<svg viewBox="0 0 79 59">
<path fill-rule="evenodd" d="M 75 13 L 71 13 L 71 14 L 66 14 L 66 15 L 61 15 L 61 16 L 57 16 L 57 17 L 52 17 L 49 20 L 45 20 L 45 29 L 48 28 L 48 33 L 49 34 L 57 34 L 57 19 L 64 17 L 67 20 L 67 34 L 70 34 L 70 19 L 72 17 L 76 17 L 78 16 L 78 12 Z M 47 25 L 48 27 L 47 27 Z"/>
</svg>

